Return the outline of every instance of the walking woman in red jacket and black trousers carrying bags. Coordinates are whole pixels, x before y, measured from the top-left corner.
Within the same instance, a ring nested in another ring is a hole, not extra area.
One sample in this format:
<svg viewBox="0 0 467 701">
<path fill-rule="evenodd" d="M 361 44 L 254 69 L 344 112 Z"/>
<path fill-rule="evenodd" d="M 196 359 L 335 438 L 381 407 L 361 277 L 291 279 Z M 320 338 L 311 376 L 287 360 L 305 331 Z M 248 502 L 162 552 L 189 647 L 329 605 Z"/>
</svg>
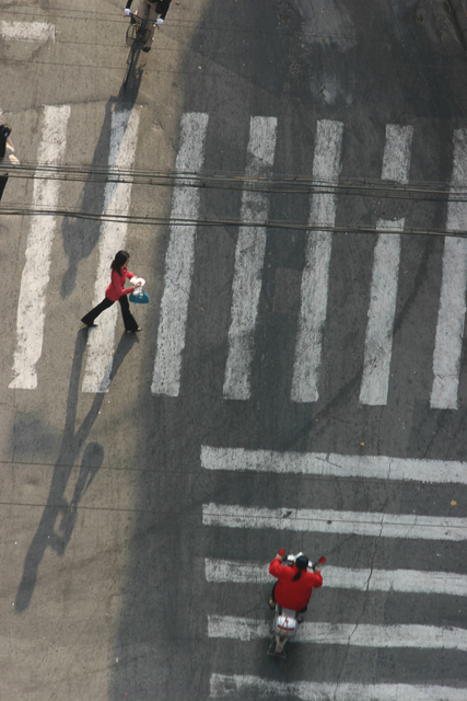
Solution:
<svg viewBox="0 0 467 701">
<path fill-rule="evenodd" d="M 128 260 L 130 254 L 127 251 L 118 251 L 115 258 L 112 261 L 112 278 L 110 285 L 105 290 L 105 297 L 97 307 L 94 307 L 85 317 L 81 319 L 86 326 L 95 327 L 97 324 L 94 321 L 97 317 L 108 309 L 116 301 L 120 303 L 121 315 L 124 318 L 125 331 L 127 333 L 136 333 L 142 331 L 138 326 L 138 322 L 130 312 L 130 304 L 128 303 L 127 295 L 130 295 L 135 287 L 140 287 L 141 283 L 137 283 L 135 287 L 125 287 L 127 278 L 135 277 L 132 273 L 128 271 Z"/>
</svg>

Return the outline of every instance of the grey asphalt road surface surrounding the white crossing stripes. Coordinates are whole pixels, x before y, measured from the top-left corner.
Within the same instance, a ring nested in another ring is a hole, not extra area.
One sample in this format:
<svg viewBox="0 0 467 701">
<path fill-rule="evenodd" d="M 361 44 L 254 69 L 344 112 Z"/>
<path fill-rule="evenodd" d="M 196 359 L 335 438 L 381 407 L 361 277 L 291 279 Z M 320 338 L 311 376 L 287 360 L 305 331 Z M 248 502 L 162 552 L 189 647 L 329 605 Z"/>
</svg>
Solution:
<svg viewBox="0 0 467 701">
<path fill-rule="evenodd" d="M 467 128 L 467 66 L 437 0 L 173 0 L 155 46 L 121 88 L 122 0 L 0 0 L 2 21 L 49 22 L 56 41 L 0 44 L 1 118 L 22 162 L 36 160 L 44 105 L 71 107 L 66 162 L 105 169 L 112 115 L 140 115 L 136 168 L 173 171 L 179 124 L 209 114 L 205 170 L 242 173 L 252 116 L 278 119 L 275 173 L 311 176 L 316 124 L 345 125 L 342 176 L 380 179 L 388 124 L 413 126 L 410 180 L 448 183 L 455 129 Z M 32 202 L 11 177 L 2 206 Z M 172 188 L 135 185 L 131 211 L 168 217 Z M 200 219 L 237 218 L 241 189 L 205 188 Z M 67 182 L 60 205 L 101 211 L 104 185 Z M 270 218 L 306 221 L 310 194 L 275 196 Z M 199 226 L 178 397 L 150 391 L 167 226 L 130 223 L 131 268 L 151 302 L 143 333 L 117 322 L 107 393 L 82 391 L 100 222 L 57 217 L 36 390 L 9 389 L 31 217 L 2 214 L 0 363 L 0 699 L 202 701 L 213 674 L 279 682 L 437 685 L 466 689 L 462 650 L 291 646 L 208 636 L 210 614 L 266 621 L 269 585 L 211 584 L 205 560 L 267 563 L 279 547 L 349 568 L 467 575 L 465 541 L 205 527 L 202 505 L 467 517 L 467 489 L 376 479 L 208 473 L 202 446 L 467 462 L 467 356 L 457 410 L 432 410 L 432 356 L 444 240 L 402 238 L 387 404 L 359 403 L 380 217 L 440 228 L 446 200 L 339 196 L 319 400 L 290 399 L 305 232 L 268 230 L 252 397 L 223 398 L 237 227 Z M 40 274 L 40 271 L 38 271 Z M 324 572 L 326 584 L 326 571 Z M 310 622 L 452 627 L 466 597 L 323 589 Z M 336 691 L 337 694 L 337 691 Z M 335 696 L 336 696 L 335 694 Z M 236 701 L 234 691 L 225 698 Z M 245 691 L 243 701 L 257 699 Z M 322 697 L 330 701 L 332 697 Z M 339 698 L 339 697 L 336 697 Z M 360 701 L 354 698 L 352 701 Z M 375 699 L 375 701 L 378 701 Z M 430 700 L 431 701 L 431 700 Z"/>
</svg>

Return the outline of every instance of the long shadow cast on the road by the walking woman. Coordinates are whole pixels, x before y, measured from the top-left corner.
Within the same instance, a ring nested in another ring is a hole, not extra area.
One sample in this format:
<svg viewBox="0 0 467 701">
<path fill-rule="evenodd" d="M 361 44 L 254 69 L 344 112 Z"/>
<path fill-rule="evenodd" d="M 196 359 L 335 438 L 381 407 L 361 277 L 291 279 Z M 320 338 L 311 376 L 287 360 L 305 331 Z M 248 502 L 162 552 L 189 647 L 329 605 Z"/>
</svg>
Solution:
<svg viewBox="0 0 467 701">
<path fill-rule="evenodd" d="M 60 453 L 54 468 L 50 490 L 43 516 L 24 561 L 23 576 L 17 588 L 14 604 L 16 613 L 22 613 L 30 606 L 37 581 L 38 566 L 44 558 L 46 549 L 51 548 L 60 556 L 65 553 L 73 532 L 77 520 L 77 509 L 80 501 L 97 474 L 104 459 L 104 448 L 100 444 L 91 443 L 86 446 L 78 481 L 74 486 L 73 496 L 70 503 L 68 503 L 65 498 L 65 491 L 70 480 L 74 461 L 78 458 L 95 420 L 97 418 L 105 397 L 105 393 L 98 393 L 94 397 L 90 411 L 84 417 L 81 426 L 75 432 L 80 377 L 86 341 L 87 330 L 83 329 L 78 332 L 77 343 L 74 346 L 70 387 L 68 391 L 67 415 Z M 128 335 L 124 333 L 121 336 L 113 358 L 110 382 L 116 376 L 125 356 L 131 350 L 136 342 L 137 338 L 133 334 Z M 60 515 L 62 516 L 62 519 L 58 526 L 57 532 L 56 522 Z"/>
</svg>

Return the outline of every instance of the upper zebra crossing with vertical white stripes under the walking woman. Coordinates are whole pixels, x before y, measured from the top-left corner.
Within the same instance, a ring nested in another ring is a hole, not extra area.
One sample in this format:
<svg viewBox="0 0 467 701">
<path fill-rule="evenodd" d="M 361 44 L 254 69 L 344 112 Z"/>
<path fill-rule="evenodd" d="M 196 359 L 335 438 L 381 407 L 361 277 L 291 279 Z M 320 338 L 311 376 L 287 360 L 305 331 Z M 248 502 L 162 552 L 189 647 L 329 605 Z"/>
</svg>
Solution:
<svg viewBox="0 0 467 701">
<path fill-rule="evenodd" d="M 59 164 L 66 158 L 67 125 L 70 106 L 46 106 L 43 114 L 43 138 L 37 160 Z M 139 138 L 139 115 L 130 111 L 114 112 L 108 153 L 109 166 L 131 169 Z M 277 138 L 280 124 L 276 117 L 250 118 L 247 146 L 246 175 L 270 175 L 275 170 Z M 313 177 L 315 181 L 337 182 L 342 168 L 342 141 L 346 125 L 328 119 L 318 120 L 314 147 Z M 156 331 L 156 350 L 151 381 L 154 395 L 178 397 L 186 347 L 188 301 L 195 267 L 197 227 L 179 225 L 179 218 L 199 218 L 202 194 L 192 183 L 184 181 L 184 172 L 199 172 L 209 166 L 206 140 L 209 115 L 185 113 L 182 117 L 176 171 L 180 174 L 172 195 L 172 219 L 165 258 L 164 288 Z M 408 183 L 411 164 L 411 126 L 387 125 L 383 153 L 382 180 Z M 467 204 L 456 195 L 467 185 L 467 131 L 456 130 L 453 136 L 453 175 L 451 199 L 447 206 L 448 230 L 464 228 Z M 129 182 L 107 183 L 103 212 L 129 212 L 133 185 Z M 59 181 L 35 180 L 34 206 L 54 209 L 59 200 Z M 310 225 L 332 226 L 337 214 L 336 194 L 314 193 L 310 202 Z M 241 205 L 241 219 L 252 222 L 267 220 L 270 195 L 245 186 Z M 177 220 L 177 221 L 175 221 Z M 370 304 L 366 314 L 366 334 L 362 357 L 360 403 L 387 403 L 394 321 L 400 263 L 400 234 L 405 220 L 380 219 L 380 231 L 374 258 Z M 385 231 L 390 228 L 393 233 Z M 22 273 L 16 314 L 16 342 L 12 364 L 10 389 L 34 390 L 38 386 L 37 363 L 44 344 L 45 298 L 48 291 L 50 251 L 55 237 L 56 218 L 33 217 L 26 245 L 26 263 Z M 126 225 L 103 223 L 98 242 L 98 264 L 93 302 L 102 298 L 107 284 L 108 261 L 116 249 L 124 246 Z M 224 368 L 223 398 L 246 401 L 252 393 L 252 361 L 255 330 L 258 324 L 258 304 L 265 266 L 266 227 L 240 227 L 232 283 L 232 306 L 227 334 L 229 352 Z M 297 319 L 293 375 L 290 398 L 296 403 L 316 402 L 323 372 L 323 334 L 328 322 L 329 263 L 332 234 L 313 230 L 306 234 L 305 261 L 301 283 L 301 304 Z M 38 279 L 37 261 L 42 262 Z M 432 409 L 456 410 L 460 374 L 460 353 L 464 338 L 465 294 L 467 289 L 467 243 L 464 239 L 447 238 L 442 263 L 442 281 L 433 358 L 427 365 L 433 368 L 430 398 Z M 362 325 L 365 319 L 362 319 Z M 90 333 L 83 392 L 105 392 L 112 369 L 116 311 L 103 315 L 98 329 Z"/>
</svg>

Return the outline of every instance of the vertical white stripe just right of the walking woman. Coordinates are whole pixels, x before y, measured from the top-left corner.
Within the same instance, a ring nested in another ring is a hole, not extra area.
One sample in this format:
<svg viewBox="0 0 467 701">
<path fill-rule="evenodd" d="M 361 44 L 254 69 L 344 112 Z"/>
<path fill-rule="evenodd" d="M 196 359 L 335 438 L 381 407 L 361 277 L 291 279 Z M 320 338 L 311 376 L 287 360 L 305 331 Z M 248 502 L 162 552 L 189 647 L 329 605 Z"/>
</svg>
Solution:
<svg viewBox="0 0 467 701">
<path fill-rule="evenodd" d="M 182 117 L 180 146 L 175 164 L 180 173 L 180 180 L 172 198 L 173 219 L 198 217 L 199 188 L 184 185 L 183 171 L 201 170 L 207 128 L 207 114 L 191 112 Z M 178 397 L 195 262 L 195 233 L 196 226 L 171 226 L 165 258 L 165 288 L 161 303 L 157 349 L 151 386 L 153 394 Z"/>
</svg>

